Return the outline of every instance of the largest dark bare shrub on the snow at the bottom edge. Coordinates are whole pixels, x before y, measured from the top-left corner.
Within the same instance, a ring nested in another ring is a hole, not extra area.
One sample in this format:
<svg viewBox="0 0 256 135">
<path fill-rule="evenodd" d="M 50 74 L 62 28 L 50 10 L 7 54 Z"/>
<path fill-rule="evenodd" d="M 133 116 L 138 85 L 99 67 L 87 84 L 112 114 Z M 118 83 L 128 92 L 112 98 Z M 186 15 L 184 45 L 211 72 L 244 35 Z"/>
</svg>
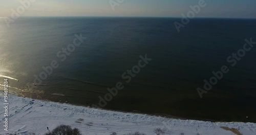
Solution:
<svg viewBox="0 0 256 135">
<path fill-rule="evenodd" d="M 79 129 L 72 129 L 71 126 L 68 125 L 60 125 L 53 129 L 51 132 L 46 133 L 45 135 L 82 135 Z"/>
</svg>

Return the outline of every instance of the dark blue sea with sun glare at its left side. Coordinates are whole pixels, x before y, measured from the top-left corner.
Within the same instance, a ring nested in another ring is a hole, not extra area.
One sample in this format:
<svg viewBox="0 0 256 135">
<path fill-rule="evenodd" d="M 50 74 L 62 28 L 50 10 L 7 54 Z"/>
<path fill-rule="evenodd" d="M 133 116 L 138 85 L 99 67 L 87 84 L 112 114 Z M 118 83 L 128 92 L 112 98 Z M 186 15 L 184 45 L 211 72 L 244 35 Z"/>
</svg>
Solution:
<svg viewBox="0 0 256 135">
<path fill-rule="evenodd" d="M 20 17 L 8 28 L 0 18 L 0 79 L 9 77 L 11 92 L 19 95 L 89 106 L 123 82 L 103 108 L 256 122 L 256 48 L 235 66 L 227 62 L 246 38 L 256 41 L 256 20 L 191 19 L 180 33 L 175 21 L 181 19 Z M 80 33 L 87 39 L 61 61 L 57 52 Z M 122 74 L 145 54 L 152 60 L 125 83 Z M 59 67 L 34 87 L 34 75 L 53 60 Z M 201 99 L 197 88 L 223 65 L 229 72 Z"/>
</svg>

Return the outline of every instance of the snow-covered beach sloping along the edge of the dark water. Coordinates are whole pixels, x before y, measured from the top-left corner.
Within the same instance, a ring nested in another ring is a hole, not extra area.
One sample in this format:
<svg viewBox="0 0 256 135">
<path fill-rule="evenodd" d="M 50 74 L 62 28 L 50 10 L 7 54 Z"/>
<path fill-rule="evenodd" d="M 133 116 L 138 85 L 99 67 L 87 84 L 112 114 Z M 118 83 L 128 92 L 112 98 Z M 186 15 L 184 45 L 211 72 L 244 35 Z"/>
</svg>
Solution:
<svg viewBox="0 0 256 135">
<path fill-rule="evenodd" d="M 10 96 L 10 95 L 9 95 Z M 234 134 L 221 127 L 236 128 L 242 134 L 256 134 L 255 123 L 242 122 L 203 122 L 195 120 L 167 119 L 156 116 L 120 113 L 70 104 L 61 104 L 33 100 L 29 98 L 10 96 L 8 132 L 4 130 L 3 95 L 1 97 L 1 124 L 0 134 L 44 134 L 58 125 L 66 124 L 80 129 L 82 134 L 125 134 L 135 131 L 154 134 L 154 129 L 162 128 L 166 134 L 211 135 Z"/>
</svg>

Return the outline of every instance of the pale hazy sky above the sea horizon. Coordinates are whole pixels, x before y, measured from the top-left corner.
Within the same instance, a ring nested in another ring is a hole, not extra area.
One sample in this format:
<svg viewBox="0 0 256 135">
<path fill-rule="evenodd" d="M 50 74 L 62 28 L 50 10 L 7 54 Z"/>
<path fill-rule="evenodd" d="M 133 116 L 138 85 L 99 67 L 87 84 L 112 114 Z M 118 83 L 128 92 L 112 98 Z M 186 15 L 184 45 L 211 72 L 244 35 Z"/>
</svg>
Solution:
<svg viewBox="0 0 256 135">
<path fill-rule="evenodd" d="M 191 10 L 190 5 L 203 0 L 0 0 L 0 17 L 12 16 L 13 10 L 22 6 L 20 1 L 31 1 L 20 16 L 182 17 L 181 14 Z M 114 10 L 110 2 L 117 4 Z M 255 0 L 205 0 L 205 3 L 195 17 L 256 18 Z"/>
</svg>

